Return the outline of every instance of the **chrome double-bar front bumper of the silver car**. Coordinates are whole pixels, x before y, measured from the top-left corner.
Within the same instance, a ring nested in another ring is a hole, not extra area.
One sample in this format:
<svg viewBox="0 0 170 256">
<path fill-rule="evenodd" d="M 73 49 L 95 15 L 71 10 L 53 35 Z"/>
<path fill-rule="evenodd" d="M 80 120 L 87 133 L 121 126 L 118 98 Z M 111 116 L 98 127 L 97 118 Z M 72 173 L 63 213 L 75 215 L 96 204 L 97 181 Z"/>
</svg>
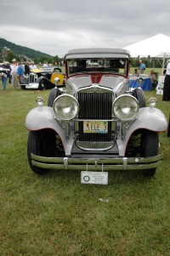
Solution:
<svg viewBox="0 0 170 256">
<path fill-rule="evenodd" d="M 56 170 L 112 171 L 142 170 L 156 168 L 163 160 L 163 154 L 150 157 L 122 158 L 69 158 L 46 157 L 31 154 L 31 164 L 39 168 Z"/>
</svg>

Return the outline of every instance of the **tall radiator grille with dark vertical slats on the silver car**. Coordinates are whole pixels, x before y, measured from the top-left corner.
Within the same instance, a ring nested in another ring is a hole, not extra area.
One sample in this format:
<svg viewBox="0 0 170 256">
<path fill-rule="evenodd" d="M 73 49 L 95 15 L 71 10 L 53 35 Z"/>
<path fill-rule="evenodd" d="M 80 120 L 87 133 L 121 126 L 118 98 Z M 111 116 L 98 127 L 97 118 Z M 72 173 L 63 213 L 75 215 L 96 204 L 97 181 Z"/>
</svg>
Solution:
<svg viewBox="0 0 170 256">
<path fill-rule="evenodd" d="M 104 92 L 85 92 L 77 94 L 80 111 L 78 119 L 82 120 L 111 120 L 111 106 L 113 94 Z M 83 122 L 78 122 L 77 140 L 80 142 L 107 143 L 112 139 L 112 123 L 108 122 L 107 134 L 83 133 Z M 84 145 L 82 143 L 82 145 Z M 93 146 L 92 146 L 93 147 Z"/>
</svg>

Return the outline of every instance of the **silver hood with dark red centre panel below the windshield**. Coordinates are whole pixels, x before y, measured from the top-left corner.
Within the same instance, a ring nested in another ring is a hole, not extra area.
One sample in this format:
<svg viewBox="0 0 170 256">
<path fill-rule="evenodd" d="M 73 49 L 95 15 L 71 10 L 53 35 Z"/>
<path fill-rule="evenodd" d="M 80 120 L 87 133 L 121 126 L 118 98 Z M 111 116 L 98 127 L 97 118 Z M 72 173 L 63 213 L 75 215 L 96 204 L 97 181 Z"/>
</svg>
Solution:
<svg viewBox="0 0 170 256">
<path fill-rule="evenodd" d="M 73 92 L 77 92 L 77 89 L 97 84 L 101 87 L 111 88 L 113 91 L 117 91 L 120 86 L 124 86 L 128 83 L 128 79 L 125 77 L 118 77 L 113 75 L 84 75 L 77 77 L 69 77 L 65 86 L 71 88 Z"/>
</svg>

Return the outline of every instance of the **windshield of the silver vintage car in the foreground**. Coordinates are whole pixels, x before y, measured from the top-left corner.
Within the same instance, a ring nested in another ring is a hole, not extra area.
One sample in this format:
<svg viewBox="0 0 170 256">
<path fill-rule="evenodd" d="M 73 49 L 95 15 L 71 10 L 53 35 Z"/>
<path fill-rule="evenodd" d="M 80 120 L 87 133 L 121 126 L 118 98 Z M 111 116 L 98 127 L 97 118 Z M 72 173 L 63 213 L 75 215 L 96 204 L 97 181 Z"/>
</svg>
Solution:
<svg viewBox="0 0 170 256">
<path fill-rule="evenodd" d="M 69 76 L 77 73 L 116 73 L 126 75 L 127 60 L 126 59 L 77 59 L 67 60 Z"/>
</svg>

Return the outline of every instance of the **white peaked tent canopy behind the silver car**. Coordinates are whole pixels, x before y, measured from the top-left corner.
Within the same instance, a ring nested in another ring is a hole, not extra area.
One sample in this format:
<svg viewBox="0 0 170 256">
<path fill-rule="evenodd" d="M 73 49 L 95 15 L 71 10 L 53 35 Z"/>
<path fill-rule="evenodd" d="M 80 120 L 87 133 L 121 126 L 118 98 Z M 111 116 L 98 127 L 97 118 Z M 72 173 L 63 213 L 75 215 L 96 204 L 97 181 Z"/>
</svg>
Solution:
<svg viewBox="0 0 170 256">
<path fill-rule="evenodd" d="M 133 57 L 161 58 L 162 71 L 166 65 L 165 60 L 170 59 L 170 37 L 158 34 L 139 43 L 133 43 L 125 47 Z"/>
</svg>

